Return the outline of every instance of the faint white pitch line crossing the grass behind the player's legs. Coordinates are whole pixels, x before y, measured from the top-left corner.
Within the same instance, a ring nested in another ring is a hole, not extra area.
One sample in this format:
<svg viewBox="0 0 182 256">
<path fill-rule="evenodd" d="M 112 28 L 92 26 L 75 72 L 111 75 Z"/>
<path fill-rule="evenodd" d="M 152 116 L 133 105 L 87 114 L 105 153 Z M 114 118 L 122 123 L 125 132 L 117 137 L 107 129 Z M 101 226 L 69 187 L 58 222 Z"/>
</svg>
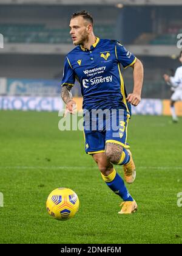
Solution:
<svg viewBox="0 0 182 256">
<path fill-rule="evenodd" d="M 98 169 L 97 166 L 0 166 L 0 169 Z M 182 166 L 137 166 L 137 169 L 182 169 Z"/>
</svg>

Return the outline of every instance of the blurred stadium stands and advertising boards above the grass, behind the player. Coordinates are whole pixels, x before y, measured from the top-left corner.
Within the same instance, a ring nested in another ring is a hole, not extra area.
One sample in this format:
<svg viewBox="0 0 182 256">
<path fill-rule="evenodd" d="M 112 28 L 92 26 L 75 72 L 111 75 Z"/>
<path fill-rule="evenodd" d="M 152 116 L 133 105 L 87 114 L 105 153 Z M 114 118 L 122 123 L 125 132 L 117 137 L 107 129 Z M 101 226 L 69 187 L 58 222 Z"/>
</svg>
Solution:
<svg viewBox="0 0 182 256">
<path fill-rule="evenodd" d="M 120 40 L 141 59 L 145 66 L 143 98 L 169 99 L 170 89 L 163 74 L 171 74 L 179 66 L 180 1 L 173 5 L 170 1 L 147 4 L 146 1 L 123 1 L 123 4 L 86 1 L 85 5 L 82 1 L 16 1 L 16 4 L 0 1 L 0 4 L 0 32 L 4 35 L 4 49 L 0 50 L 0 95 L 34 97 L 28 104 L 24 98 L 0 98 L 0 109 L 22 109 L 26 105 L 30 110 L 54 110 L 49 106 L 50 99 L 37 101 L 35 97 L 58 96 L 64 57 L 73 48 L 69 18 L 81 9 L 93 13 L 96 35 Z M 130 92 L 132 69 L 123 71 L 123 75 Z M 79 85 L 73 88 L 73 96 L 81 96 Z M 150 101 L 146 107 L 144 102 L 138 113 L 169 115 L 169 102 L 162 103 Z M 62 106 L 57 101 L 55 105 L 56 110 Z M 181 105 L 178 108 L 182 115 Z"/>
</svg>

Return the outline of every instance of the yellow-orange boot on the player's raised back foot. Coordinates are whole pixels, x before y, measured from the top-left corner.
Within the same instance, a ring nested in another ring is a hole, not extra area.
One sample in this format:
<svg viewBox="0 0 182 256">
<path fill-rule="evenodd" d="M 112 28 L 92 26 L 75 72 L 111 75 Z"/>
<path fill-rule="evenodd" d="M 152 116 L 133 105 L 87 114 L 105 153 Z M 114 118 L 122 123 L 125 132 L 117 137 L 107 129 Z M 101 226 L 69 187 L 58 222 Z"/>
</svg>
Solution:
<svg viewBox="0 0 182 256">
<path fill-rule="evenodd" d="M 126 165 L 123 165 L 124 179 L 127 183 L 133 183 L 136 178 L 135 163 L 133 162 L 132 153 L 129 151 L 129 149 L 126 150 L 129 152 L 130 160 L 128 163 L 126 163 Z"/>
</svg>

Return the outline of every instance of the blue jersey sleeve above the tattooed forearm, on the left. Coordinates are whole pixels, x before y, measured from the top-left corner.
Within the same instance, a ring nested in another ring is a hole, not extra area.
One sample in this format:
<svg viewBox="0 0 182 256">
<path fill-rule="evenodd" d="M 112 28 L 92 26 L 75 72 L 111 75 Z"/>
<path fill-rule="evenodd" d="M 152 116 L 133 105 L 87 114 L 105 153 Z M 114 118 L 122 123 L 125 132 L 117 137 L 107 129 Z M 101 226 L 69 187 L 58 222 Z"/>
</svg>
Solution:
<svg viewBox="0 0 182 256">
<path fill-rule="evenodd" d="M 64 69 L 63 69 L 61 86 L 64 86 L 64 85 L 73 86 L 74 84 L 75 84 L 75 73 L 73 71 L 72 65 L 70 64 L 68 57 L 66 57 L 66 59 L 64 60 Z"/>
</svg>

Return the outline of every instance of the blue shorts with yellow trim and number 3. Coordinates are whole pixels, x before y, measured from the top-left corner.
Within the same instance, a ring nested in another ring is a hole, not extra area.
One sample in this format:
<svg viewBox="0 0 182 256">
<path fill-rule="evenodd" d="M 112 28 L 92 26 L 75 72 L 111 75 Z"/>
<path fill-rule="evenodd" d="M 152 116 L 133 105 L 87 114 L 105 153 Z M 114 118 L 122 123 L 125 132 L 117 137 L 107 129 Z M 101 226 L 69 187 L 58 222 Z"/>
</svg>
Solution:
<svg viewBox="0 0 182 256">
<path fill-rule="evenodd" d="M 106 142 L 117 143 L 123 148 L 130 148 L 127 144 L 129 113 L 126 110 L 115 110 L 114 113 L 109 110 L 109 112 L 110 116 L 106 117 L 105 115 L 101 122 L 101 116 L 91 117 L 89 126 L 84 118 L 84 140 L 87 154 L 105 152 Z"/>
</svg>

